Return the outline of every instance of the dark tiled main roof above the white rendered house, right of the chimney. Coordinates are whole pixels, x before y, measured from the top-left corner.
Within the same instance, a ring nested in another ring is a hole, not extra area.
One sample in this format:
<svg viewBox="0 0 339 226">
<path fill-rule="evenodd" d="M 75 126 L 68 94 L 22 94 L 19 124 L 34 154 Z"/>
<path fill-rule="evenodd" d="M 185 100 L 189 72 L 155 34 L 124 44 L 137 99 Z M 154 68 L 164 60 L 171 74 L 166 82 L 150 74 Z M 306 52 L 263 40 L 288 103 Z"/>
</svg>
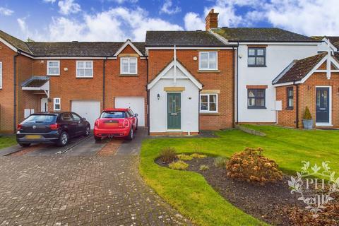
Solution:
<svg viewBox="0 0 339 226">
<path fill-rule="evenodd" d="M 280 28 L 214 28 L 230 42 L 319 42 Z"/>
</svg>

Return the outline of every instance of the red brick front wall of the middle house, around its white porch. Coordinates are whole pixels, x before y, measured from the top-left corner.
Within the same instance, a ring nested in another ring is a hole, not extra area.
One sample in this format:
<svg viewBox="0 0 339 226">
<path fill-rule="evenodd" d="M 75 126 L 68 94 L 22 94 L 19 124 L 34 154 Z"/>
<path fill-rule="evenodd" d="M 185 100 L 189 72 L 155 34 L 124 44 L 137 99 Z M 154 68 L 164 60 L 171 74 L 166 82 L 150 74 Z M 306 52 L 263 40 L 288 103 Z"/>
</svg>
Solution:
<svg viewBox="0 0 339 226">
<path fill-rule="evenodd" d="M 218 72 L 201 73 L 198 71 L 198 50 L 177 50 L 177 59 L 193 76 L 203 83 L 203 90 L 220 90 L 218 96 L 218 114 L 200 114 L 200 129 L 223 129 L 233 126 L 234 81 L 233 51 L 218 50 Z M 149 79 L 155 78 L 173 59 L 173 50 L 149 50 Z"/>
</svg>

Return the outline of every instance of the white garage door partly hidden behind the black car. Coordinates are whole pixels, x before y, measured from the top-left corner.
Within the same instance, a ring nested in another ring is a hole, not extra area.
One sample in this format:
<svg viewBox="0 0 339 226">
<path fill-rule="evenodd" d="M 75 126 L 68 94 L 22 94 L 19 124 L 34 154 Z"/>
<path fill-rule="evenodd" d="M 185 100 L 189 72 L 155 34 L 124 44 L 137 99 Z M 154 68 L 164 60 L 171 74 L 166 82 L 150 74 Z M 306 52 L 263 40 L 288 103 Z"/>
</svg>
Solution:
<svg viewBox="0 0 339 226">
<path fill-rule="evenodd" d="M 72 112 L 86 118 L 93 129 L 95 119 L 100 117 L 100 101 L 73 100 Z"/>
</svg>

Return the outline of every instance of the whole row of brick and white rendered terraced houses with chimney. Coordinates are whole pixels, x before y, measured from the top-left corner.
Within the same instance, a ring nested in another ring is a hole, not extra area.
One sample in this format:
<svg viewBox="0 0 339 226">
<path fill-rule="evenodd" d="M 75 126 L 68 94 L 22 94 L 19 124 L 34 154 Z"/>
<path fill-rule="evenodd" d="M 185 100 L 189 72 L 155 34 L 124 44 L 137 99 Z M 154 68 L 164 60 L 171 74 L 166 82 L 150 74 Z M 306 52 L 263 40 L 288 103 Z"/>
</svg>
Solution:
<svg viewBox="0 0 339 226">
<path fill-rule="evenodd" d="M 107 107 L 131 107 L 152 135 L 300 127 L 305 106 L 316 126 L 339 126 L 335 43 L 278 28 L 218 28 L 213 10 L 204 31 L 148 31 L 145 42 L 23 42 L 1 31 L 0 131 L 46 111 L 71 110 L 93 126 Z"/>
</svg>

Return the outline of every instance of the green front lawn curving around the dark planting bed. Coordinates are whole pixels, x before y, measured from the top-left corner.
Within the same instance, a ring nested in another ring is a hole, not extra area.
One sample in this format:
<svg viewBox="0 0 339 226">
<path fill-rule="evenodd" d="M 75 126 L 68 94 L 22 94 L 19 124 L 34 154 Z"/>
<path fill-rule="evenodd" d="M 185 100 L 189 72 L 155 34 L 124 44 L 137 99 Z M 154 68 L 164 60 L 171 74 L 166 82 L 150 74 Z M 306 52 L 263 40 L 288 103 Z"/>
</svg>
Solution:
<svg viewBox="0 0 339 226">
<path fill-rule="evenodd" d="M 299 171 L 302 161 L 311 165 L 330 161 L 339 174 L 339 131 L 303 131 L 278 126 L 248 126 L 266 133 L 254 136 L 231 129 L 218 131 L 219 138 L 152 138 L 143 142 L 140 172 L 145 182 L 180 213 L 197 225 L 262 225 L 225 201 L 201 174 L 160 167 L 154 160 L 160 150 L 174 147 L 178 153 L 205 153 L 230 157 L 246 147 L 264 149 L 287 174 Z M 255 203 L 254 203 L 255 205 Z"/>
</svg>

